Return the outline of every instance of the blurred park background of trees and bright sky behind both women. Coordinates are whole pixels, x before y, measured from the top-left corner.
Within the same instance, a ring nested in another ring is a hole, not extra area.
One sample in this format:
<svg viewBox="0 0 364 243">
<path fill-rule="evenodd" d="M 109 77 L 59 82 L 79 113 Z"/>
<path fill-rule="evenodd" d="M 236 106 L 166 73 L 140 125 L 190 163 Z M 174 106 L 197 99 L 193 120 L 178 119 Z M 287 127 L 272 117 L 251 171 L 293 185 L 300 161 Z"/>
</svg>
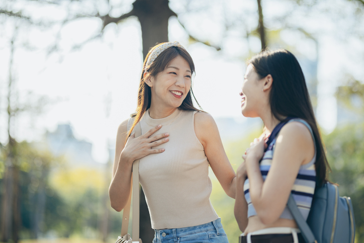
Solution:
<svg viewBox="0 0 364 243">
<path fill-rule="evenodd" d="M 193 57 L 195 96 L 234 169 L 262 129 L 240 113 L 245 61 L 265 47 L 296 55 L 331 181 L 351 197 L 355 242 L 364 242 L 363 0 L 2 0 L 0 242 L 115 242 L 117 127 L 136 109 L 143 58 L 166 41 Z M 237 242 L 234 200 L 210 177 L 212 204 Z M 144 242 L 148 216 L 142 200 Z"/>
</svg>

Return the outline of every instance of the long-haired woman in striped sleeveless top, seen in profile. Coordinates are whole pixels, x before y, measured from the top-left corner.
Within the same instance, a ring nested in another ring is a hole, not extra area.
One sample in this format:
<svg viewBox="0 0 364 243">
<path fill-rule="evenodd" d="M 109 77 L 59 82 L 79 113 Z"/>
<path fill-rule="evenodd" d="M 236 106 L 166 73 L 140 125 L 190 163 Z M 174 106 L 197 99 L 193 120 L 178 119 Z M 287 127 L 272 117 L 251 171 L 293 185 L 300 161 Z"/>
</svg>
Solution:
<svg viewBox="0 0 364 243">
<path fill-rule="evenodd" d="M 307 219 L 329 166 L 296 57 L 287 50 L 254 56 L 240 96 L 242 114 L 264 123 L 237 170 L 234 214 L 244 232 L 241 242 L 304 242 L 287 201 L 292 193 Z M 281 130 L 269 138 L 275 129 Z"/>
</svg>

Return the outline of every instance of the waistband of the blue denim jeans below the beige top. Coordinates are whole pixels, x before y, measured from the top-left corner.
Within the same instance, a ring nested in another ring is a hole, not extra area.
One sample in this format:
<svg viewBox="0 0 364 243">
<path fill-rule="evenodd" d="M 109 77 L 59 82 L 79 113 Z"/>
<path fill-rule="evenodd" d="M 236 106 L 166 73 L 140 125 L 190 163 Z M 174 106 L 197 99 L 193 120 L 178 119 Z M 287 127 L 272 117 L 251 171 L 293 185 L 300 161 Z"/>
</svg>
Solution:
<svg viewBox="0 0 364 243">
<path fill-rule="evenodd" d="M 170 228 L 170 229 L 154 229 L 155 236 L 159 240 L 164 240 L 173 237 L 180 237 L 188 234 L 198 233 L 201 231 L 208 231 L 216 229 L 217 234 L 219 234 L 219 228 L 222 228 L 221 218 L 218 218 L 209 223 L 204 223 L 196 226 L 190 226 L 185 228 Z"/>
</svg>

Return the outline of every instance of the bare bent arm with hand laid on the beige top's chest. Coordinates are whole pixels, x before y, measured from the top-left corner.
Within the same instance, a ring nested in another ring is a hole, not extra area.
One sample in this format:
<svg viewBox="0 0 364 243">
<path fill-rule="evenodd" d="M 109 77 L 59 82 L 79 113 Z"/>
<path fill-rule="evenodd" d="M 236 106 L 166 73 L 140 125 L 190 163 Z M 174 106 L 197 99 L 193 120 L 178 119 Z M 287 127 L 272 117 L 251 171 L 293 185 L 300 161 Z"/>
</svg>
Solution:
<svg viewBox="0 0 364 243">
<path fill-rule="evenodd" d="M 109 197 L 112 208 L 120 212 L 128 202 L 131 191 L 132 167 L 135 160 L 151 153 L 160 153 L 164 149 L 152 149 L 152 147 L 168 141 L 169 134 L 152 136 L 160 127 L 154 127 L 137 138 L 132 134 L 127 142 L 128 120 L 119 125 L 116 136 L 115 158 L 113 165 L 113 178 L 109 187 Z M 164 139 L 161 139 L 165 137 Z M 159 140 L 160 139 L 160 140 Z M 127 196 L 128 195 L 128 196 Z"/>
</svg>

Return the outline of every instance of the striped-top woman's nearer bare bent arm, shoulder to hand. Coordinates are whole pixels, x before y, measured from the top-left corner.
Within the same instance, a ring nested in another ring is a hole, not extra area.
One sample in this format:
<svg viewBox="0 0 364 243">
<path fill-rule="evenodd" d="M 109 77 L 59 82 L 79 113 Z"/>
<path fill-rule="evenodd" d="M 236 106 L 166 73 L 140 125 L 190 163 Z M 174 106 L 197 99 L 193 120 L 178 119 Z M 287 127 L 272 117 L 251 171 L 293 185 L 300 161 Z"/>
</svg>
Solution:
<svg viewBox="0 0 364 243">
<path fill-rule="evenodd" d="M 247 150 L 245 163 L 249 177 L 249 193 L 259 219 L 264 224 L 277 221 L 286 207 L 301 165 L 314 156 L 310 131 L 300 122 L 285 125 L 277 137 L 269 173 L 263 181 L 259 160 L 264 141 L 256 140 Z"/>
</svg>

